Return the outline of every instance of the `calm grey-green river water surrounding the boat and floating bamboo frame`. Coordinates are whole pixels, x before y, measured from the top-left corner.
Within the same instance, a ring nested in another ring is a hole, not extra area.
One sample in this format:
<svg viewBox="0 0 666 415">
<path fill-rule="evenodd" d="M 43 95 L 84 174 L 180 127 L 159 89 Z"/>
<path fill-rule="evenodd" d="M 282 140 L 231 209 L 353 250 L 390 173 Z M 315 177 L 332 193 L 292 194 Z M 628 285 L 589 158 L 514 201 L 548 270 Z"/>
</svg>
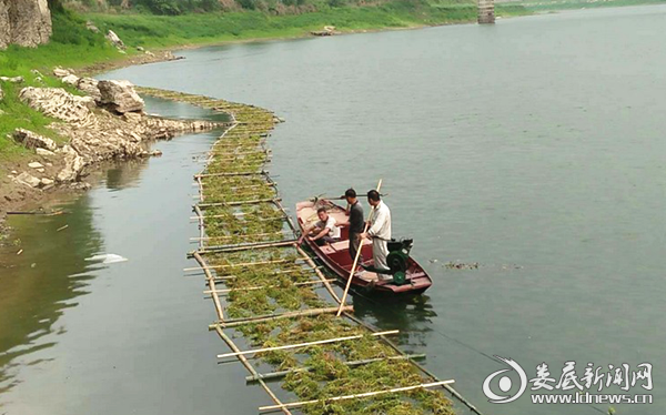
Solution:
<svg viewBox="0 0 666 415">
<path fill-rule="evenodd" d="M 427 354 L 426 366 L 484 413 L 609 407 L 534 405 L 529 391 L 491 404 L 482 384 L 506 367 L 500 355 L 527 378 L 543 362 L 556 379 L 567 361 L 578 376 L 587 363 L 652 363 L 654 389 L 629 393 L 654 404 L 612 406 L 660 415 L 665 22 L 663 6 L 584 10 L 188 50 L 107 77 L 286 119 L 269 144 L 287 206 L 383 179 L 394 233 L 415 239 L 434 285 L 403 304 L 354 296 L 356 314 L 403 331 L 404 347 Z M 0 413 L 252 414 L 268 402 L 242 384 L 240 366 L 215 365 L 224 347 L 205 332 L 212 304 L 181 273 L 196 232 L 186 221 L 192 158 L 213 135 L 111 169 L 65 204 L 69 215 L 14 221 L 21 246 L 38 249 L 1 271 Z M 129 261 L 83 261 L 99 252 Z"/>
</svg>

